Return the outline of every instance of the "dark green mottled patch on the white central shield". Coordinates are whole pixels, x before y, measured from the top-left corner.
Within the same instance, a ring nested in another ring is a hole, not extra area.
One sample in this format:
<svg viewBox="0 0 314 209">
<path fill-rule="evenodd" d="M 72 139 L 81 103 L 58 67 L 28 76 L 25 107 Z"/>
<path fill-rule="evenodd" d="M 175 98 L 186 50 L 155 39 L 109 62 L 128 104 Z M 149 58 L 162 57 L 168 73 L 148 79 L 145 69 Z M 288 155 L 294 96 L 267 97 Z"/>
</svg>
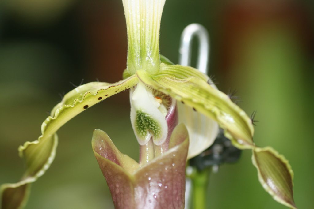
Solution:
<svg viewBox="0 0 314 209">
<path fill-rule="evenodd" d="M 151 131 L 154 137 L 160 136 L 160 124 L 147 113 L 136 111 L 135 128 L 139 137 L 146 137 L 147 131 Z"/>
</svg>

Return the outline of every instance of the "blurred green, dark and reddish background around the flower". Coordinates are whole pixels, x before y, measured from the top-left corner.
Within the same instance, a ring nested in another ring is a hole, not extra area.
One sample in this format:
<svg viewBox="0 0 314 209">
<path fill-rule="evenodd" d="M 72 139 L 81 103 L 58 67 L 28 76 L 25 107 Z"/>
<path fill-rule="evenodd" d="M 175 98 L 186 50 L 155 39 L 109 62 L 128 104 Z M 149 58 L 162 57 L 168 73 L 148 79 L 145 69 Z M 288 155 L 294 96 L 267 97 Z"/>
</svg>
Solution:
<svg viewBox="0 0 314 209">
<path fill-rule="evenodd" d="M 289 159 L 299 208 L 314 203 L 313 13 L 310 0 L 167 0 L 160 29 L 161 54 L 174 62 L 185 26 L 208 29 L 210 74 L 221 91 L 237 89 L 249 115 L 257 110 L 255 142 Z M 126 55 L 120 0 L 0 2 L 0 184 L 20 178 L 18 146 L 37 139 L 47 111 L 73 88 L 69 82 L 118 81 Z M 56 159 L 32 185 L 26 208 L 113 208 L 91 136 L 102 129 L 137 159 L 129 108 L 123 92 L 64 125 Z M 259 184 L 247 150 L 211 176 L 208 208 L 285 207 Z"/>
</svg>

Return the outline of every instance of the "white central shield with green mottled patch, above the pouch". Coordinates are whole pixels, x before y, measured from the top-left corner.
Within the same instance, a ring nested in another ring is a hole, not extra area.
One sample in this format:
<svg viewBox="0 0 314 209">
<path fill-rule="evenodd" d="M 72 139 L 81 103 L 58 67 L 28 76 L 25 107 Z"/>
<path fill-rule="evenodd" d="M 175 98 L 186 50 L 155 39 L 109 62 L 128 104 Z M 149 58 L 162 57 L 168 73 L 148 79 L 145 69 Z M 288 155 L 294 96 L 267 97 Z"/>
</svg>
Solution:
<svg viewBox="0 0 314 209">
<path fill-rule="evenodd" d="M 154 144 L 161 145 L 167 138 L 167 108 L 159 100 L 141 82 L 130 91 L 131 123 L 140 145 L 147 144 L 150 138 Z"/>
</svg>

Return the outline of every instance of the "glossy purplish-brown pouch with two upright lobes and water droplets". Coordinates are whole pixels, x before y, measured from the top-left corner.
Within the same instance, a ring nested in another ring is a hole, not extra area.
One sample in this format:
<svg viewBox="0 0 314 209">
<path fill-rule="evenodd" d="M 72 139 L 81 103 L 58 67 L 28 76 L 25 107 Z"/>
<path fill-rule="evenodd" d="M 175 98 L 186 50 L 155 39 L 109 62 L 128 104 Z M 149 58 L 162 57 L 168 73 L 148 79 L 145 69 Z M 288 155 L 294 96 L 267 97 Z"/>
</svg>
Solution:
<svg viewBox="0 0 314 209">
<path fill-rule="evenodd" d="M 144 165 L 119 152 L 108 135 L 93 134 L 92 146 L 116 209 L 184 208 L 188 133 L 178 125 L 169 149 Z"/>
</svg>

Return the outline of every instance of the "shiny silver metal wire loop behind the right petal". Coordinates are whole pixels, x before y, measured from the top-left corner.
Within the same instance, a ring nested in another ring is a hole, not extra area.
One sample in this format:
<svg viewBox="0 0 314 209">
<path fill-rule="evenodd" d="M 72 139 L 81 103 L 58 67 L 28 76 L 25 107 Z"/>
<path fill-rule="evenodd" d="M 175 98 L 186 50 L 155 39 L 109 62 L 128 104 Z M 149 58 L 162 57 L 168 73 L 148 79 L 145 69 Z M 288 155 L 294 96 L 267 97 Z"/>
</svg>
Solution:
<svg viewBox="0 0 314 209">
<path fill-rule="evenodd" d="M 198 62 L 196 68 L 202 73 L 208 73 L 209 60 L 209 36 L 204 26 L 193 23 L 189 24 L 182 32 L 179 48 L 179 64 L 184 66 L 191 65 L 192 41 L 197 37 Z"/>
</svg>

